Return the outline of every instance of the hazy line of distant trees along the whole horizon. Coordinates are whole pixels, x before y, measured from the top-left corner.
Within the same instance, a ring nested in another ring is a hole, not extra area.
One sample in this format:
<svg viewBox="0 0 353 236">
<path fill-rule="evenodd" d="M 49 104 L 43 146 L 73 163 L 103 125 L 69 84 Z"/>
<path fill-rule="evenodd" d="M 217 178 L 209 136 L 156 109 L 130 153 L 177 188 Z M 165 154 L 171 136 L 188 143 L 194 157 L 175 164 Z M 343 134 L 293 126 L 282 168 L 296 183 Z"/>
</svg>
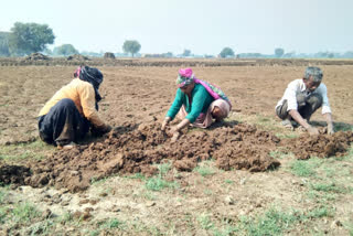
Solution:
<svg viewBox="0 0 353 236">
<path fill-rule="evenodd" d="M 47 47 L 53 44 L 55 35 L 53 30 L 47 24 L 38 23 L 21 23 L 15 22 L 10 32 L 0 32 L 0 56 L 24 56 L 31 53 L 41 52 L 51 56 L 68 56 L 79 54 L 72 44 L 63 44 L 54 47 L 52 51 Z M 141 56 L 139 51 L 141 44 L 136 40 L 126 40 L 122 45 L 124 53 L 115 53 L 115 56 Z M 105 52 L 87 52 L 83 51 L 81 54 L 87 56 L 104 56 Z M 146 55 L 146 54 L 145 54 Z M 174 57 L 173 53 L 149 54 L 151 57 Z M 191 50 L 185 49 L 176 57 L 214 57 L 213 55 L 195 55 Z M 261 53 L 238 53 L 226 46 L 217 55 L 222 58 L 237 57 L 237 58 L 353 58 L 353 51 L 344 53 L 335 52 L 318 52 L 312 54 L 285 52 L 284 49 L 277 47 L 274 54 Z"/>
</svg>

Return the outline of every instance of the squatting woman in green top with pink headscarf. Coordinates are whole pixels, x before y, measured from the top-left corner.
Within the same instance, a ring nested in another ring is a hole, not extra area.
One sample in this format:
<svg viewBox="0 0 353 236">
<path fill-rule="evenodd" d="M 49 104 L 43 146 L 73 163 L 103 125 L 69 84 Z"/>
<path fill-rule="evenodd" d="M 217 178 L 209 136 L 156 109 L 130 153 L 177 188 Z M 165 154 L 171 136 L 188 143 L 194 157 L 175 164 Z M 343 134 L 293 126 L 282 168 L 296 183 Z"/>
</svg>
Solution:
<svg viewBox="0 0 353 236">
<path fill-rule="evenodd" d="M 176 95 L 162 122 L 162 130 L 179 112 L 182 121 L 171 128 L 175 141 L 180 130 L 192 124 L 194 127 L 207 128 L 213 119 L 221 121 L 229 114 L 232 105 L 221 88 L 197 79 L 191 68 L 179 69 Z"/>
</svg>

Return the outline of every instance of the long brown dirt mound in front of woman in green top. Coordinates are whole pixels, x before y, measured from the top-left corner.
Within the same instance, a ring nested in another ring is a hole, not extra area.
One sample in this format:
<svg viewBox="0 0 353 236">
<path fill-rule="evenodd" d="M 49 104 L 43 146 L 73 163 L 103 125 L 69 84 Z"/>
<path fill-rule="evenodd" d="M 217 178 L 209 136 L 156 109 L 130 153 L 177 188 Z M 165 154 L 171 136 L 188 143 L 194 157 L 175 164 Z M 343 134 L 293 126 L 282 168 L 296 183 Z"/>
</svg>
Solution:
<svg viewBox="0 0 353 236">
<path fill-rule="evenodd" d="M 201 160 L 213 158 L 224 170 L 266 171 L 280 163 L 268 155 L 280 140 L 249 125 L 228 125 L 211 130 L 191 130 L 171 142 L 160 124 L 116 128 L 103 141 L 61 150 L 46 160 L 29 163 L 24 183 L 85 190 L 93 180 L 114 173 L 152 175 L 154 163 L 171 161 L 180 171 L 192 171 Z"/>
</svg>

